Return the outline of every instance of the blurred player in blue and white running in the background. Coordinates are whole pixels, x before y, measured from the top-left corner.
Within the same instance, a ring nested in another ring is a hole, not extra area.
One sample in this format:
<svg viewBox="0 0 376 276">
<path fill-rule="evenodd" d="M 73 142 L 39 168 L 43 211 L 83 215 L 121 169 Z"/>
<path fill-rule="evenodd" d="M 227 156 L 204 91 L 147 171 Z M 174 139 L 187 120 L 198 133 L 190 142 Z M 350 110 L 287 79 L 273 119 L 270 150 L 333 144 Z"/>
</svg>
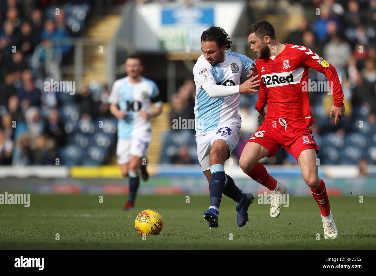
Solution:
<svg viewBox="0 0 376 276">
<path fill-rule="evenodd" d="M 127 77 L 114 82 L 108 97 L 111 113 L 118 119 L 117 162 L 123 177 L 129 176 L 129 195 L 124 206 L 132 210 L 139 186 L 138 170 L 146 181 L 146 157 L 152 140 L 151 118 L 162 112 L 159 89 L 154 81 L 141 76 L 143 65 L 138 56 L 129 56 Z M 151 104 L 155 107 L 151 111 Z"/>
</svg>

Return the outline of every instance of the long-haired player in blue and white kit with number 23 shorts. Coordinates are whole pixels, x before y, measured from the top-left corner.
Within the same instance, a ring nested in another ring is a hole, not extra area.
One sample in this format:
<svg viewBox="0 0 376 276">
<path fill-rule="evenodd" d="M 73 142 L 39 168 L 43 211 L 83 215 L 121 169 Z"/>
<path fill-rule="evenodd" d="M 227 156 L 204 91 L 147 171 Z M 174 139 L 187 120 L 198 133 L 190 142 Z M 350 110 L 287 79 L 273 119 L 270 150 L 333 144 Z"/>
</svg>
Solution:
<svg viewBox="0 0 376 276">
<path fill-rule="evenodd" d="M 225 174 L 224 162 L 230 157 L 240 138 L 239 93 L 257 92 L 253 60 L 237 53 L 226 52 L 232 47 L 227 33 L 213 26 L 201 35 L 202 55 L 193 68 L 196 83 L 196 141 L 200 166 L 209 181 L 210 207 L 204 213 L 209 227 L 218 227 L 218 212 L 222 193 L 237 205 L 240 227 L 248 221 L 252 193 L 243 193 L 233 179 Z M 240 83 L 240 74 L 253 76 Z"/>
</svg>

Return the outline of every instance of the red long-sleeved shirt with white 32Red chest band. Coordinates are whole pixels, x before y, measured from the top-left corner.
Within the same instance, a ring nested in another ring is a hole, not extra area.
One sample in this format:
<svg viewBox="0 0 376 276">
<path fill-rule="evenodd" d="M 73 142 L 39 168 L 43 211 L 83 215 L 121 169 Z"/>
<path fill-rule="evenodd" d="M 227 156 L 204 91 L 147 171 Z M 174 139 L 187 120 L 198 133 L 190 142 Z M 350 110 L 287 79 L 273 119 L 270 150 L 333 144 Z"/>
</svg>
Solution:
<svg viewBox="0 0 376 276">
<path fill-rule="evenodd" d="M 343 106 L 342 87 L 335 68 L 304 46 L 285 45 L 276 56 L 256 60 L 257 73 L 262 80 L 256 104 L 258 112 L 262 112 L 268 103 L 265 119 L 284 118 L 313 124 L 308 101 L 308 68 L 326 75 L 332 84 L 334 105 Z"/>
</svg>

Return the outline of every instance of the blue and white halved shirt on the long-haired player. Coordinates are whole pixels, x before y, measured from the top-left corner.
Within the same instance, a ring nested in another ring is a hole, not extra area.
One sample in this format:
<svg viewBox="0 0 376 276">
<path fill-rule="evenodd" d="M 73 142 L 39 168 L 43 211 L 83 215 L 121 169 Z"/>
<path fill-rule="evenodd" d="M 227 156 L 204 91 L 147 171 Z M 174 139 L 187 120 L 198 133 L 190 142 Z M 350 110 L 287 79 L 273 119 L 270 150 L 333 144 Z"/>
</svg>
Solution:
<svg viewBox="0 0 376 276">
<path fill-rule="evenodd" d="M 212 130 L 224 122 L 238 121 L 240 123 L 239 94 L 211 98 L 201 87 L 203 83 L 213 79 L 218 85 L 239 85 L 241 72 L 252 72 L 249 69 L 254 63 L 252 59 L 238 53 L 224 53 L 225 59 L 222 63 L 212 66 L 202 54 L 193 67 L 196 84 L 194 114 L 197 132 Z"/>
</svg>

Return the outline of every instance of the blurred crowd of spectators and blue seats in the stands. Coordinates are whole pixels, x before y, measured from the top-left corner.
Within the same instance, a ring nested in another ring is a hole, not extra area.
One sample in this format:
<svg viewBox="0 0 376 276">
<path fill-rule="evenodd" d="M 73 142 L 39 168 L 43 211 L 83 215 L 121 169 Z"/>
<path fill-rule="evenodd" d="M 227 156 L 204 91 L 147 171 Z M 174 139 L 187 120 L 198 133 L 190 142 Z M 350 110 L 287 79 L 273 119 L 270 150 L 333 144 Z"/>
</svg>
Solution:
<svg viewBox="0 0 376 276">
<path fill-rule="evenodd" d="M 45 91 L 43 85 L 51 78 L 62 80 L 61 65 L 70 60 L 72 48 L 59 41 L 79 35 L 90 11 L 86 1 L 79 3 L 68 2 L 56 14 L 56 7 L 43 1 L 0 0 L 0 164 L 55 164 L 57 156 L 67 165 L 109 160 L 116 119 L 108 111 L 108 88 L 81 86 L 70 95 Z M 303 17 L 281 42 L 304 45 L 334 65 L 345 98 L 345 116 L 334 126 L 332 95 L 310 92 L 321 164 L 376 164 L 376 0 L 307 0 L 300 5 L 318 8 L 320 14 L 312 20 Z M 326 81 L 314 70 L 309 79 Z M 162 139 L 161 163 L 198 163 L 194 129 L 172 125 L 173 119 L 194 119 L 195 93 L 193 80 L 187 79 L 171 99 L 171 130 Z M 242 128 L 230 160 L 234 164 L 259 125 L 256 101 L 257 94 L 240 95 Z M 103 131 L 98 131 L 100 121 Z M 281 148 L 262 162 L 296 160 Z"/>
</svg>

